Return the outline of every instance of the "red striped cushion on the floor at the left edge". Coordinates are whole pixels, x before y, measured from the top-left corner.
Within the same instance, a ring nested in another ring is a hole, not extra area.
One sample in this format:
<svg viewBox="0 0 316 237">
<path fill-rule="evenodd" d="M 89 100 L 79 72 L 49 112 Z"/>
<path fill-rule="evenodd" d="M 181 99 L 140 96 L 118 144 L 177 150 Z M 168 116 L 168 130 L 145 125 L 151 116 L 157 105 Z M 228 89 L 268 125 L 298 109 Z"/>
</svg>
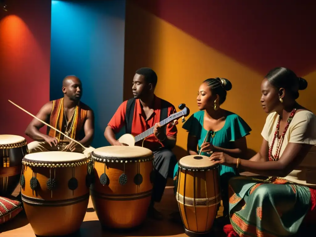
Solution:
<svg viewBox="0 0 316 237">
<path fill-rule="evenodd" d="M 0 197 L 0 224 L 9 221 L 23 210 L 21 202 Z"/>
</svg>

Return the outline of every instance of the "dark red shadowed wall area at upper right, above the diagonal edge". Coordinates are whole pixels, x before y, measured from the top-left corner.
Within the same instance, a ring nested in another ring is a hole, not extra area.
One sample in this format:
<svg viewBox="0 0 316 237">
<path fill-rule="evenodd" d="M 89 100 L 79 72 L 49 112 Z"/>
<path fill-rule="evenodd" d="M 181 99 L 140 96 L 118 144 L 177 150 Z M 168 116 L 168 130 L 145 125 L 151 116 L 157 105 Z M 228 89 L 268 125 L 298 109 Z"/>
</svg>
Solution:
<svg viewBox="0 0 316 237">
<path fill-rule="evenodd" d="M 260 73 L 280 64 L 300 75 L 315 70 L 316 2 L 130 1 Z"/>
</svg>

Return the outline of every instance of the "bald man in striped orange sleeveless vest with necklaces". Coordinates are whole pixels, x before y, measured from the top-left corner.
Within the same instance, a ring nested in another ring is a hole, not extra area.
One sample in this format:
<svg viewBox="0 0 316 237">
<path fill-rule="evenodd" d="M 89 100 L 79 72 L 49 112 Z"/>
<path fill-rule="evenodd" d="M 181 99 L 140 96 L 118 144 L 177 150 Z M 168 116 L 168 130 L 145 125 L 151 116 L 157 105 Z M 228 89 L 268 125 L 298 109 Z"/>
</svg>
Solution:
<svg viewBox="0 0 316 237">
<path fill-rule="evenodd" d="M 82 96 L 80 79 L 76 76 L 66 76 L 62 91 L 64 97 L 46 103 L 36 117 L 79 141 L 83 146 L 89 147 L 94 136 L 94 113 L 91 108 L 80 102 Z M 28 144 L 30 153 L 70 151 L 88 157 L 93 150 L 92 147 L 83 149 L 82 146 L 50 127 L 47 127 L 46 134 L 43 134 L 39 131 L 43 126 L 44 124 L 37 119 L 33 119 L 27 126 L 25 134 L 35 140 Z"/>
</svg>

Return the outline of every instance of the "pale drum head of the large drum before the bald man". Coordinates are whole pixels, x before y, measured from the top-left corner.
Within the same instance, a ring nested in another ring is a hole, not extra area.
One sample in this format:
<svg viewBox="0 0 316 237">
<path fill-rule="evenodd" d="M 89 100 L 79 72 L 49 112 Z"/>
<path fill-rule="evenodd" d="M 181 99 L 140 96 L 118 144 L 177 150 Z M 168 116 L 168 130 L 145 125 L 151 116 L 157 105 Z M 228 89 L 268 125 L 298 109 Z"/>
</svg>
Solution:
<svg viewBox="0 0 316 237">
<path fill-rule="evenodd" d="M 23 160 L 31 163 L 75 163 L 86 160 L 86 156 L 81 153 L 67 151 L 46 151 L 31 153 L 24 156 Z"/>
</svg>

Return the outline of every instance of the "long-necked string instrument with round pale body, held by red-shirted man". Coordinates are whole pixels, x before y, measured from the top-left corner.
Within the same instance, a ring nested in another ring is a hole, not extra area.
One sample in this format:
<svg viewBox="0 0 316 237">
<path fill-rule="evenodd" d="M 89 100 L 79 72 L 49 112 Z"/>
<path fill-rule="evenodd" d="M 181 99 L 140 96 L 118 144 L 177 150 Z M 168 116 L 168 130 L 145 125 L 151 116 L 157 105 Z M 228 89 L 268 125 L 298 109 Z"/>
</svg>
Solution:
<svg viewBox="0 0 316 237">
<path fill-rule="evenodd" d="M 174 120 L 177 120 L 181 117 L 182 117 L 182 122 L 184 122 L 185 121 L 184 117 L 186 117 L 190 114 L 190 110 L 188 107 L 185 107 L 185 104 L 179 105 L 179 109 L 182 109 L 182 110 L 177 112 L 177 113 L 171 114 L 167 119 L 160 121 L 159 122 L 160 125 L 166 126 L 167 124 L 169 124 L 169 123 L 173 122 Z M 133 135 L 128 134 L 128 133 L 124 134 L 118 139 L 118 141 L 120 143 L 124 143 L 128 146 L 135 146 L 135 145 L 141 146 L 142 145 L 141 141 L 153 133 L 154 133 L 154 127 L 151 127 L 149 129 L 147 129 L 146 131 L 142 132 L 141 134 L 138 134 L 136 137 L 134 137 Z"/>
</svg>

